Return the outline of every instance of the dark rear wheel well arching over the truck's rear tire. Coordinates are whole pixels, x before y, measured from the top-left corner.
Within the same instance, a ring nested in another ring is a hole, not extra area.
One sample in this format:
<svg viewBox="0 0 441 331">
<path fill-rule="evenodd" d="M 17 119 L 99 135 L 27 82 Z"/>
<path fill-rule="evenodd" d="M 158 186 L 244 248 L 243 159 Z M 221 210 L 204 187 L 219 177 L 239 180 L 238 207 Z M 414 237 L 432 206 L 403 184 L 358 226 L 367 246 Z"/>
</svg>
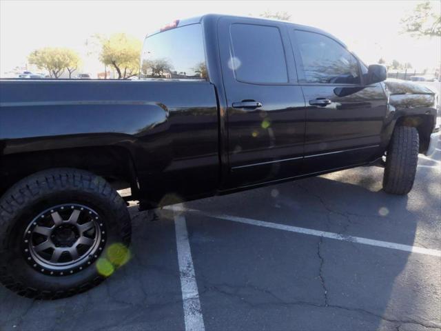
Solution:
<svg viewBox="0 0 441 331">
<path fill-rule="evenodd" d="M 3 155 L 0 163 L 0 195 L 34 172 L 50 168 L 77 168 L 98 174 L 116 190 L 136 190 L 136 171 L 130 152 L 117 146 L 65 148 Z"/>
</svg>

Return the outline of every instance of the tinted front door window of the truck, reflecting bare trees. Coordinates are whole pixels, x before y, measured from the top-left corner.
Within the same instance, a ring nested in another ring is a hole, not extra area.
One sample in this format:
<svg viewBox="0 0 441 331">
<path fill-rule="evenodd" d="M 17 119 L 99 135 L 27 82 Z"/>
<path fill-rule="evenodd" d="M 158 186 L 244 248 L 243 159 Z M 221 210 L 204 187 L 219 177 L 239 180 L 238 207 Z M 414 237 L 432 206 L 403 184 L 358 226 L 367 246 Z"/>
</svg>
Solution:
<svg viewBox="0 0 441 331">
<path fill-rule="evenodd" d="M 357 59 L 340 43 L 322 34 L 296 31 L 295 45 L 307 83 L 360 83 Z"/>
</svg>

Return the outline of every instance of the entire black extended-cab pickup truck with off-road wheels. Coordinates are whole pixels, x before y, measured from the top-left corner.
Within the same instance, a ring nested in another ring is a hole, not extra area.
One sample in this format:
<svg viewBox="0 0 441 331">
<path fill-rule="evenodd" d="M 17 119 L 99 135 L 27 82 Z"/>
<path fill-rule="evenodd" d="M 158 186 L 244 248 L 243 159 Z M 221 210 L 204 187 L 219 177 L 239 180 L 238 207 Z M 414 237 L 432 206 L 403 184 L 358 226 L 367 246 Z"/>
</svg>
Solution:
<svg viewBox="0 0 441 331">
<path fill-rule="evenodd" d="M 1 283 L 40 299 L 92 288 L 126 260 L 128 200 L 374 164 L 407 194 L 438 96 L 386 76 L 322 30 L 209 14 L 148 36 L 139 80 L 1 80 Z"/>
</svg>

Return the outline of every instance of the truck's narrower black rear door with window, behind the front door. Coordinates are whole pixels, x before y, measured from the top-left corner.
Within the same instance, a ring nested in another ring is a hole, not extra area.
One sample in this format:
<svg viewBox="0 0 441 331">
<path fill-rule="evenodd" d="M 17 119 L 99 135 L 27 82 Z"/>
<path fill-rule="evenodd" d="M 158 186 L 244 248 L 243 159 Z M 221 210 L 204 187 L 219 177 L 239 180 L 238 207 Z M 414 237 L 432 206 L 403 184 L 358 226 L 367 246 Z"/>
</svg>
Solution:
<svg viewBox="0 0 441 331">
<path fill-rule="evenodd" d="M 300 174 L 305 99 L 285 24 L 224 17 L 218 43 L 227 99 L 225 187 Z"/>
</svg>

